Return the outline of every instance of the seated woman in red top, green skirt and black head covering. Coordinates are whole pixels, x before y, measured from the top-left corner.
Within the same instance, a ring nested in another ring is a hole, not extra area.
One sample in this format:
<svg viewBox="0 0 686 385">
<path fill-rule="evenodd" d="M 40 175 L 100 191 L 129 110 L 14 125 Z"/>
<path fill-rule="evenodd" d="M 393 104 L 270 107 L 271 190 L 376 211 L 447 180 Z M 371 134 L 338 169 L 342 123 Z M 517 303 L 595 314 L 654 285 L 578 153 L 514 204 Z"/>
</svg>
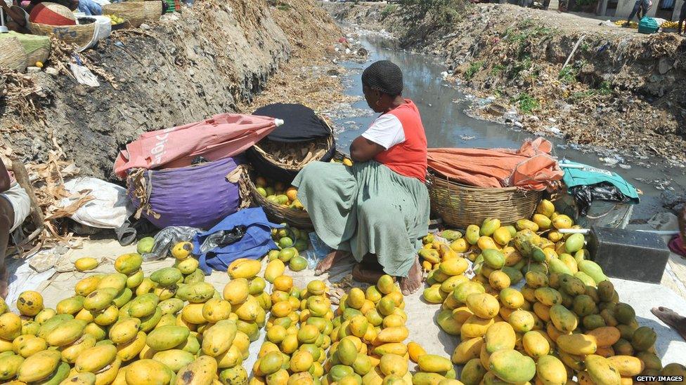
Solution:
<svg viewBox="0 0 686 385">
<path fill-rule="evenodd" d="M 386 273 L 408 295 L 422 284 L 417 252 L 429 227 L 427 138 L 417 106 L 402 95 L 397 65 L 374 62 L 362 90 L 381 115 L 351 144 L 354 165 L 313 162 L 293 185 L 317 235 L 335 250 L 316 273 L 352 255 L 356 281 L 376 283 Z"/>
</svg>

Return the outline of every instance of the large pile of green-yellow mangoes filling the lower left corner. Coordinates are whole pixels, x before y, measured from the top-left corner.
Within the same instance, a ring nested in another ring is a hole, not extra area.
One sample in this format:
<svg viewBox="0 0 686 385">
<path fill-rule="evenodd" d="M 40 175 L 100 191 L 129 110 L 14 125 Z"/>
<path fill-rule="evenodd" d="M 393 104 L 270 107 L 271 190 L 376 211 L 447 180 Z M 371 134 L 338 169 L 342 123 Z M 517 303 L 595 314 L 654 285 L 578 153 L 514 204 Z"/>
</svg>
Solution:
<svg viewBox="0 0 686 385">
<path fill-rule="evenodd" d="M 0 301 L 0 380 L 247 384 L 242 361 L 271 306 L 266 282 L 257 277 L 261 264 L 233 262 L 232 281 L 219 293 L 205 282 L 189 246 L 175 245 L 174 266 L 149 277 L 141 255 L 121 255 L 116 273 L 86 276 L 56 309 L 44 308 L 34 291 L 19 296 L 19 315 Z"/>
</svg>

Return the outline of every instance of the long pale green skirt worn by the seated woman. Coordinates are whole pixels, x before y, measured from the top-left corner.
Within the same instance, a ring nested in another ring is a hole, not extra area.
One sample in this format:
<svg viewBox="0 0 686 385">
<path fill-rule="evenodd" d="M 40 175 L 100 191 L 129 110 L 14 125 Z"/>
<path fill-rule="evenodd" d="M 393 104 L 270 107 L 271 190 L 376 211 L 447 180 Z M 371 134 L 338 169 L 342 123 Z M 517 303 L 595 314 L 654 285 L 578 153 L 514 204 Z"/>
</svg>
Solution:
<svg viewBox="0 0 686 385">
<path fill-rule="evenodd" d="M 351 252 L 358 262 L 373 254 L 385 273 L 408 276 L 429 228 L 429 194 L 420 180 L 377 161 L 313 162 L 293 185 L 330 248 Z"/>
</svg>

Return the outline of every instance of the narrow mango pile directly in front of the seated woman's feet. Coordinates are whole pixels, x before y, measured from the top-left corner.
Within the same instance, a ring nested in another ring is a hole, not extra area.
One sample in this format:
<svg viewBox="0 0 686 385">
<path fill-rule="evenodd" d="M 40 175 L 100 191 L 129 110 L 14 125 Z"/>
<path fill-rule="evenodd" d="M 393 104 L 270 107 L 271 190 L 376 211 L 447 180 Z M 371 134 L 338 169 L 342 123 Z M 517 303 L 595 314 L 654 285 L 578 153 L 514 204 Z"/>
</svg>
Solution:
<svg viewBox="0 0 686 385">
<path fill-rule="evenodd" d="M 447 358 L 427 355 L 419 344 L 406 344 L 409 335 L 402 293 L 391 276 L 379 278 L 366 290 L 344 295 L 333 319 L 332 346 L 322 384 L 417 384 L 455 379 Z M 412 374 L 409 361 L 420 363 Z M 445 382 L 444 384 L 450 384 Z"/>
</svg>

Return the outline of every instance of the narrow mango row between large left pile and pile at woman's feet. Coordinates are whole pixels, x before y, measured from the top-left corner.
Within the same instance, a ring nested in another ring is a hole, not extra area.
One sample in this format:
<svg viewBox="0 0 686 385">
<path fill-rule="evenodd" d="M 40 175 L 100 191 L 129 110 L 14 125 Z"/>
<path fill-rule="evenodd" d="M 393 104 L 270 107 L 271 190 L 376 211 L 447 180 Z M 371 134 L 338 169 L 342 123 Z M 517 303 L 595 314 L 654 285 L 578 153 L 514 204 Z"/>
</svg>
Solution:
<svg viewBox="0 0 686 385">
<path fill-rule="evenodd" d="M 273 280 L 266 340 L 252 367 L 254 384 L 320 381 L 333 318 L 326 290 L 318 280 L 309 282 L 304 290 L 296 288 L 290 276 Z"/>
</svg>

